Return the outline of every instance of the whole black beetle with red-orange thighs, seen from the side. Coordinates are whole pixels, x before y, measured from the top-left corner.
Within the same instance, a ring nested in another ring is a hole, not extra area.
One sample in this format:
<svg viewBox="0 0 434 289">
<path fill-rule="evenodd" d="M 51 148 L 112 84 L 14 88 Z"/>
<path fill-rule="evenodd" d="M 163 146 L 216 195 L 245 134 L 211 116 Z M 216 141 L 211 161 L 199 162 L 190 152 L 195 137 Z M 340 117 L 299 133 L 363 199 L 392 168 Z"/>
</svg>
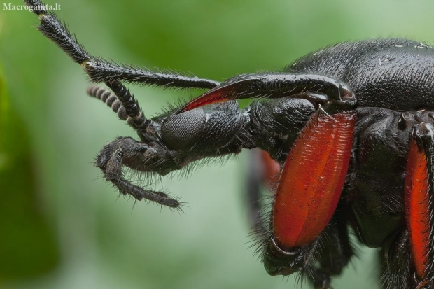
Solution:
<svg viewBox="0 0 434 289">
<path fill-rule="evenodd" d="M 137 132 L 139 140 L 111 141 L 95 162 L 122 194 L 179 208 L 176 198 L 128 181 L 123 167 L 166 175 L 260 148 L 281 166 L 269 218 L 258 224 L 269 274 L 301 272 L 330 288 L 354 255 L 351 226 L 363 244 L 382 248 L 384 288 L 434 287 L 433 48 L 404 39 L 340 43 L 279 73 L 218 83 L 106 62 L 41 1 L 25 3 L 37 6 L 44 35 L 109 87 L 88 94 Z M 209 90 L 148 119 L 123 83 Z M 246 98 L 257 99 L 240 109 L 235 99 Z"/>
</svg>

